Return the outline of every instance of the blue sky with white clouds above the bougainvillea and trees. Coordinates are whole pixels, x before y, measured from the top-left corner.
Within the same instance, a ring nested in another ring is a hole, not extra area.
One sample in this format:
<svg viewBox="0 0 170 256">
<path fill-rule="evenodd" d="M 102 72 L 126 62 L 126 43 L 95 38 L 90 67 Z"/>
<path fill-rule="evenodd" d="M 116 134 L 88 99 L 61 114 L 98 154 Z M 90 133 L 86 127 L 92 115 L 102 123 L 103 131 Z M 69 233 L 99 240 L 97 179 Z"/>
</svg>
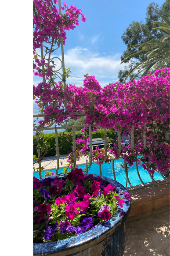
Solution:
<svg viewBox="0 0 170 256">
<path fill-rule="evenodd" d="M 64 0 L 61 0 L 61 6 Z M 65 0 L 67 6 L 76 5 L 86 15 L 75 30 L 66 31 L 64 45 L 65 68 L 70 68 L 72 78 L 66 83 L 83 85 L 83 75 L 94 75 L 101 87 L 118 80 L 120 56 L 127 49 L 121 36 L 132 21 L 145 22 L 150 0 Z M 163 4 L 165 0 L 155 3 Z M 63 13 L 64 11 L 62 11 Z M 38 52 L 39 53 L 39 52 Z M 56 55 L 61 58 L 61 49 Z M 58 64 L 58 62 L 56 62 Z M 42 80 L 33 76 L 36 86 Z"/>
</svg>

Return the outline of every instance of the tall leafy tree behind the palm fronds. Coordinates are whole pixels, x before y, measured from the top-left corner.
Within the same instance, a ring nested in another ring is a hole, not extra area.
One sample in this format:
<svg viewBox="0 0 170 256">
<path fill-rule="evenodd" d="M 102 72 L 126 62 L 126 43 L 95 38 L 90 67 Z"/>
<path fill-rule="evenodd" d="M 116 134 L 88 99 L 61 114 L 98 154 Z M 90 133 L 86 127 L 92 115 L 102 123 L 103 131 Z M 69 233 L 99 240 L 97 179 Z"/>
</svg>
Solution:
<svg viewBox="0 0 170 256">
<path fill-rule="evenodd" d="M 156 24 L 153 23 L 155 21 L 163 21 L 161 18 L 163 11 L 166 11 L 165 16 L 168 17 L 167 14 L 170 11 L 168 2 L 165 2 L 160 8 L 158 4 L 149 4 L 146 9 L 146 22 L 133 21 L 123 33 L 122 39 L 127 45 L 127 50 L 123 52 L 121 60 L 122 63 L 128 63 L 128 65 L 125 66 L 123 71 L 119 71 L 119 82 L 124 83 L 126 80 L 133 80 L 134 78 L 140 79 L 141 75 L 143 75 L 143 67 L 140 64 L 145 63 L 148 58 L 148 56 L 145 55 L 147 49 L 145 49 L 145 53 L 142 54 L 143 44 L 151 40 L 160 40 L 160 38 L 163 37 L 164 32 L 154 29 Z M 157 26 L 159 26 L 159 24 Z M 135 70 L 135 68 L 137 69 Z"/>
</svg>

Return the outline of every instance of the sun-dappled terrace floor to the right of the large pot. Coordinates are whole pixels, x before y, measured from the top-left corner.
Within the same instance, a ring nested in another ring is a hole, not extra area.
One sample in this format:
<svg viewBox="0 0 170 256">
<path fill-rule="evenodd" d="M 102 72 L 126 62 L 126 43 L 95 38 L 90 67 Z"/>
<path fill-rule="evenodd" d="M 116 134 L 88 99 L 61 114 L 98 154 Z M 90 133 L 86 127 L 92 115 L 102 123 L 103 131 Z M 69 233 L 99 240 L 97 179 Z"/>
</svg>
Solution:
<svg viewBox="0 0 170 256">
<path fill-rule="evenodd" d="M 170 256 L 170 206 L 150 214 L 127 223 L 124 256 Z"/>
</svg>

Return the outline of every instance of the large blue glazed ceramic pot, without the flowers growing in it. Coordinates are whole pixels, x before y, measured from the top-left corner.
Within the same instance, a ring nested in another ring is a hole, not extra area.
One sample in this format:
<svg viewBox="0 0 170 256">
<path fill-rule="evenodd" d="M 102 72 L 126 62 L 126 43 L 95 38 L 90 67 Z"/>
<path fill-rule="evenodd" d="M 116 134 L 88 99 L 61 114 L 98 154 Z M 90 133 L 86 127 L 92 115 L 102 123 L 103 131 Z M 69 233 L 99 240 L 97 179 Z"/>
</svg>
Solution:
<svg viewBox="0 0 170 256">
<path fill-rule="evenodd" d="M 97 175 L 93 175 L 98 178 Z M 55 177 L 55 176 L 53 176 Z M 44 178 L 40 179 L 43 181 Z M 101 179 L 116 187 L 117 192 L 127 189 L 117 181 L 101 176 Z M 122 194 L 122 197 L 124 193 Z M 49 256 L 123 256 L 126 242 L 126 219 L 130 201 L 125 201 L 119 212 L 96 228 L 61 241 L 34 243 L 33 255 Z"/>
</svg>

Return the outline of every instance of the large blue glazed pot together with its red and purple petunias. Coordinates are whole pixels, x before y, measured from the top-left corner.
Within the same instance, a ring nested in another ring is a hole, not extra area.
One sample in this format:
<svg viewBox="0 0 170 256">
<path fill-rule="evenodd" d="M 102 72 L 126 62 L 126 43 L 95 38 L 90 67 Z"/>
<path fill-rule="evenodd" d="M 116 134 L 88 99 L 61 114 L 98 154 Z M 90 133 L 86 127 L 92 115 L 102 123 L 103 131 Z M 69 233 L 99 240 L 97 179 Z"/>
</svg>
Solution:
<svg viewBox="0 0 170 256">
<path fill-rule="evenodd" d="M 129 193 L 109 178 L 78 168 L 33 177 L 33 255 L 121 256 L 129 212 Z"/>
</svg>

